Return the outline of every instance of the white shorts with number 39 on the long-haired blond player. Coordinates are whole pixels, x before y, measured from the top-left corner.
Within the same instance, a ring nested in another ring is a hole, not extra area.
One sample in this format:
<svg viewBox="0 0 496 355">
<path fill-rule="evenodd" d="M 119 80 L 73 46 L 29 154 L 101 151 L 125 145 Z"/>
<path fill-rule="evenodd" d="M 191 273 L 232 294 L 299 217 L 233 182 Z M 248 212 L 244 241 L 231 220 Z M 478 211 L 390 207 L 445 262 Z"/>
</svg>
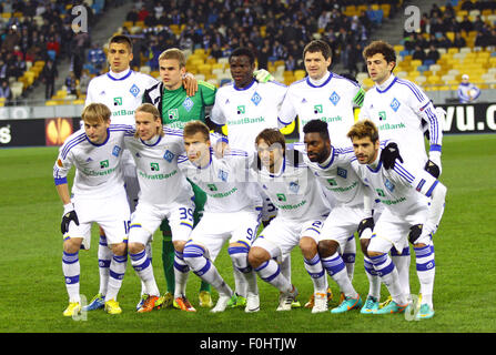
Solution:
<svg viewBox="0 0 496 355">
<path fill-rule="evenodd" d="M 172 241 L 188 241 L 193 230 L 193 211 L 194 203 L 189 196 L 166 206 L 140 201 L 131 216 L 129 242 L 146 245 L 165 219 L 171 226 Z"/>
</svg>

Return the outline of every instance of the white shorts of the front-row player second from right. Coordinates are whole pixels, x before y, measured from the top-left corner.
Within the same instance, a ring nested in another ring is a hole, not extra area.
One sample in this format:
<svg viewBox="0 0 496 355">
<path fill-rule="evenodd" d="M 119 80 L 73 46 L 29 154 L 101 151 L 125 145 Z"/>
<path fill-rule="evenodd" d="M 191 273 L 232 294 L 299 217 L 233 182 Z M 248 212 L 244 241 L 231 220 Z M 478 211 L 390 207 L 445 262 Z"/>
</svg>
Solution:
<svg viewBox="0 0 496 355">
<path fill-rule="evenodd" d="M 360 222 L 367 215 L 363 207 L 336 206 L 324 222 L 318 241 L 336 241 L 344 251 L 350 236 L 354 235 Z"/>
</svg>

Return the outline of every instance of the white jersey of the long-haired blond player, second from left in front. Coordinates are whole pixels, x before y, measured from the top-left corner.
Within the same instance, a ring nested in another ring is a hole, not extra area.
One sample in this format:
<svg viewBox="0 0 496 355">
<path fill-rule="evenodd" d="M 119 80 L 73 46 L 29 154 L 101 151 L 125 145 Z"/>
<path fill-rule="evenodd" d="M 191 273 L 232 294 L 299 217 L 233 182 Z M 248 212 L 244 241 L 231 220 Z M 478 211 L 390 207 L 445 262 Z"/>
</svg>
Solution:
<svg viewBox="0 0 496 355">
<path fill-rule="evenodd" d="M 125 134 L 125 148 L 136 164 L 140 201 L 152 205 L 166 205 L 178 195 L 193 196 L 193 190 L 178 168 L 184 153 L 182 131 L 164 128 L 165 135 L 153 143 L 134 138 L 134 130 Z"/>
</svg>

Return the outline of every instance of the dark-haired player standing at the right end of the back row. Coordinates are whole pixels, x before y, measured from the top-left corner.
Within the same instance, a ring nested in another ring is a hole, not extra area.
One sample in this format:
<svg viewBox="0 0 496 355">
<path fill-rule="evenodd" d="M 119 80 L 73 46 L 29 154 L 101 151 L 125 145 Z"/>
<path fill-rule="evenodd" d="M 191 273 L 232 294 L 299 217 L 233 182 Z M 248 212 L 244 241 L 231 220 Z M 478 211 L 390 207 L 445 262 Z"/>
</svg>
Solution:
<svg viewBox="0 0 496 355">
<path fill-rule="evenodd" d="M 396 65 L 394 48 L 383 41 L 374 41 L 363 51 L 367 71 L 375 85 L 364 98 L 360 120 L 373 121 L 381 141 L 393 141 L 408 163 L 425 169 L 434 178 L 442 172 L 442 110 L 415 83 L 393 74 Z M 429 152 L 425 151 L 424 123 L 429 136 Z M 393 261 L 398 268 L 399 282 L 409 295 L 409 246 L 392 250 Z"/>
</svg>

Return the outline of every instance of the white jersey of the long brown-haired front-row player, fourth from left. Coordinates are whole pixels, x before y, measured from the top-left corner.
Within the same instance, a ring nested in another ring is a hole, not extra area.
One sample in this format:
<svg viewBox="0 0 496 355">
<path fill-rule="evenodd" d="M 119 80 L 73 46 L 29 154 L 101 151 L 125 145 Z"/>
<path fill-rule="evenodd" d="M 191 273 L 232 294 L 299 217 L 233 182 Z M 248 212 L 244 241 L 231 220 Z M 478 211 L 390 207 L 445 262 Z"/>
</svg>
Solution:
<svg viewBox="0 0 496 355">
<path fill-rule="evenodd" d="M 260 186 L 279 209 L 277 216 L 312 220 L 330 212 L 323 190 L 302 155 L 294 149 L 287 149 L 281 170 L 275 174 L 261 165 L 256 155 L 253 159 L 251 172 L 256 175 Z"/>
</svg>

